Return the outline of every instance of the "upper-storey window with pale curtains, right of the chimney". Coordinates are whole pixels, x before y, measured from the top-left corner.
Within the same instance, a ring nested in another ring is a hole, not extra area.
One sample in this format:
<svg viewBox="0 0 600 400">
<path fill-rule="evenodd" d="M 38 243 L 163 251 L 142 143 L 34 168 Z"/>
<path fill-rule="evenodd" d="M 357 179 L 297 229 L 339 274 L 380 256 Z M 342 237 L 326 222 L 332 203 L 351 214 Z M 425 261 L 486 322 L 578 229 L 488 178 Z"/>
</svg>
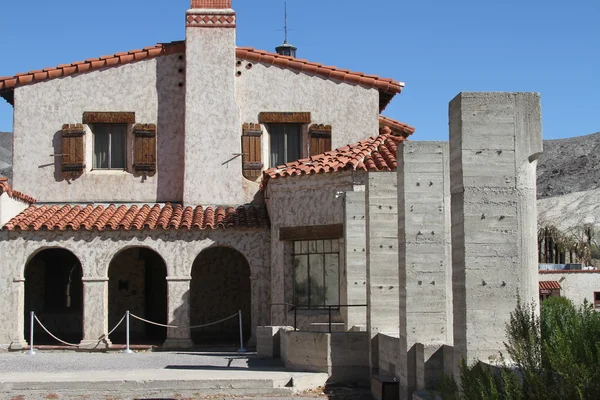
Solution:
<svg viewBox="0 0 600 400">
<path fill-rule="evenodd" d="M 302 125 L 270 124 L 271 167 L 302 158 Z"/>
</svg>

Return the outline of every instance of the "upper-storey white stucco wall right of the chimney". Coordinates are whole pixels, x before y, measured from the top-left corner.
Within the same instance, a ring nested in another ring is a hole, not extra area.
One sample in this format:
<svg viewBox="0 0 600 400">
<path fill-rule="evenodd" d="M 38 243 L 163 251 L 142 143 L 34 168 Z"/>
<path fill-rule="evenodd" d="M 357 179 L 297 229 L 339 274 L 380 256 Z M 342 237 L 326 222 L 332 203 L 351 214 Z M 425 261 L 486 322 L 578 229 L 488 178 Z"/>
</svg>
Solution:
<svg viewBox="0 0 600 400">
<path fill-rule="evenodd" d="M 238 60 L 236 98 L 241 122 L 258 122 L 261 112 L 310 112 L 312 124 L 331 125 L 332 149 L 379 133 L 379 92 L 274 65 Z M 251 67 L 250 67 L 251 66 Z M 250 68 L 249 68 L 250 67 Z M 262 151 L 269 165 L 269 134 L 263 130 Z M 308 127 L 305 129 L 307 138 Z M 308 156 L 305 140 L 303 156 Z M 258 186 L 247 181 L 250 186 Z"/>
</svg>

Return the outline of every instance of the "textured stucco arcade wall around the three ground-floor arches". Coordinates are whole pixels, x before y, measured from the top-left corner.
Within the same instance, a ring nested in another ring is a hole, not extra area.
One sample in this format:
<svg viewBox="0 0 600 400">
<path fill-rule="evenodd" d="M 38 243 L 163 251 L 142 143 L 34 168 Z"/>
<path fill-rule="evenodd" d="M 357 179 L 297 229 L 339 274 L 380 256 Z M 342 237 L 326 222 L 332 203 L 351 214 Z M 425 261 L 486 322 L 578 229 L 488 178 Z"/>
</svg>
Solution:
<svg viewBox="0 0 600 400">
<path fill-rule="evenodd" d="M 58 247 L 71 251 L 81 261 L 85 282 L 106 279 L 114 256 L 135 246 L 150 248 L 163 258 L 168 281 L 189 280 L 194 260 L 206 248 L 225 246 L 238 250 L 248 260 L 251 270 L 253 332 L 256 326 L 267 325 L 270 303 L 270 238 L 267 230 L 118 231 L 100 234 L 0 231 L 0 293 L 5 296 L 5 301 L 0 302 L 0 346 L 23 340 L 24 269 L 40 250 Z M 169 289 L 169 304 L 177 304 L 182 296 L 183 293 Z M 84 306 L 92 318 L 97 319 L 105 312 L 100 298 L 84 298 Z"/>
</svg>

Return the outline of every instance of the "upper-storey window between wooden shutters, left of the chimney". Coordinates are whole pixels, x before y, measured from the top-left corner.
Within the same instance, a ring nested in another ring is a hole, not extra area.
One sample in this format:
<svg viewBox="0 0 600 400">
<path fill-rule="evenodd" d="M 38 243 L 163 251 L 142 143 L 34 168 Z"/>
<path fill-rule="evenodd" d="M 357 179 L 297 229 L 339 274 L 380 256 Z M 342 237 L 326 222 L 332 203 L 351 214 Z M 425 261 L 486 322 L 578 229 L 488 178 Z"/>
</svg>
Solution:
<svg viewBox="0 0 600 400">
<path fill-rule="evenodd" d="M 125 169 L 127 124 L 94 124 L 94 169 Z"/>
</svg>

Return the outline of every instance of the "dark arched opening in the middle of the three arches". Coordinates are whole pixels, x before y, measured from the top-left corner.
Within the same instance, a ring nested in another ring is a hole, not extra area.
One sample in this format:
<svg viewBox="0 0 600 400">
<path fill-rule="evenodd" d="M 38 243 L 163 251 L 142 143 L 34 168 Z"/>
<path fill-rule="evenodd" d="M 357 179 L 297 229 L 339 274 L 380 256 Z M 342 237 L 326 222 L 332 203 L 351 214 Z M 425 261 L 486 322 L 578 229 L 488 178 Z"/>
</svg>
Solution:
<svg viewBox="0 0 600 400">
<path fill-rule="evenodd" d="M 108 267 L 108 327 L 112 329 L 129 310 L 131 314 L 167 323 L 167 266 L 155 251 L 134 247 L 118 253 Z M 125 343 L 125 323 L 109 337 Z M 130 318 L 132 344 L 162 344 L 167 329 Z"/>
</svg>

